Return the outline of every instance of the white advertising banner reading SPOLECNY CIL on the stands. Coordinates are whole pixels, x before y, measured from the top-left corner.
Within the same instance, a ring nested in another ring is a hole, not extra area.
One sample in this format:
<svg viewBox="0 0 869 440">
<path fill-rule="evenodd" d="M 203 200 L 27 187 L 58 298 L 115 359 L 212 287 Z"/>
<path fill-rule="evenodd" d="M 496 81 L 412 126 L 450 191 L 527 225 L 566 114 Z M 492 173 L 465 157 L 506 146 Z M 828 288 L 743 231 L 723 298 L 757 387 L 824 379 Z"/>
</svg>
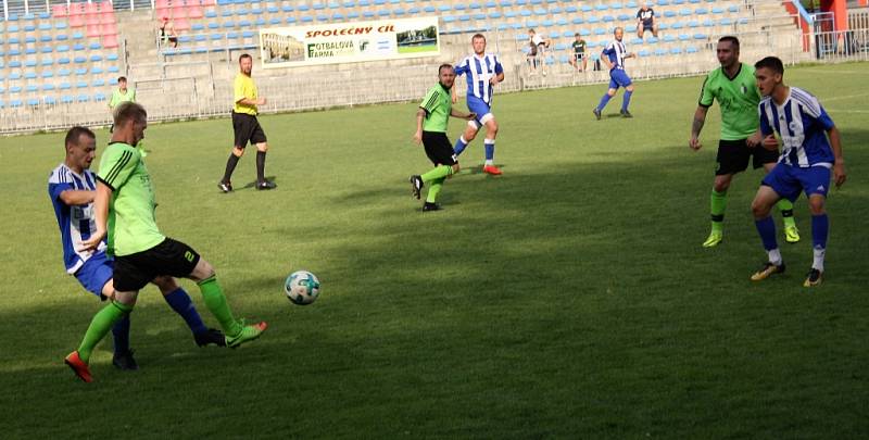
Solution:
<svg viewBox="0 0 869 440">
<path fill-rule="evenodd" d="M 353 63 L 440 54 L 438 17 L 260 29 L 263 67 Z"/>
</svg>

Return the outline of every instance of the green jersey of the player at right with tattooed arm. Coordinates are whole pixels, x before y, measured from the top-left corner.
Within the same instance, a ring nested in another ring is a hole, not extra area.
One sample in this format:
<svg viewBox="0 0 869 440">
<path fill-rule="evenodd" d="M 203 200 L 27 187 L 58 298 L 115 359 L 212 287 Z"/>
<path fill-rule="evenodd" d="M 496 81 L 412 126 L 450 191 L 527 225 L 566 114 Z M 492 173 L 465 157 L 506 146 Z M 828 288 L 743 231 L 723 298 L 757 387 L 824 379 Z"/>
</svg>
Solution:
<svg viewBox="0 0 869 440">
<path fill-rule="evenodd" d="M 708 108 L 713 100 L 721 108 L 721 139 L 741 140 L 752 136 L 760 124 L 757 104 L 760 91 L 754 78 L 754 67 L 740 63 L 740 71 L 728 78 L 722 67 L 709 72 L 703 81 L 700 105 Z"/>
</svg>

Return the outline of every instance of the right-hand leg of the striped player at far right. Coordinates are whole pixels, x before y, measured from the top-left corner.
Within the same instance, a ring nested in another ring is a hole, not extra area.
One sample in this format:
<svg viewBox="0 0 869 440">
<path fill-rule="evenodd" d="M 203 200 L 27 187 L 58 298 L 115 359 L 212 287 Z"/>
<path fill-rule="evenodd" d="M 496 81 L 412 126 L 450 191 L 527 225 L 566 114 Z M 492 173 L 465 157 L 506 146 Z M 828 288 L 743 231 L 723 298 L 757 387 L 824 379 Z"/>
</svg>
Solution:
<svg viewBox="0 0 869 440">
<path fill-rule="evenodd" d="M 822 166 L 799 168 L 799 180 L 806 189 L 808 208 L 811 212 L 811 250 L 813 261 L 805 287 L 821 284 L 823 277 L 823 260 L 827 255 L 827 237 L 830 234 L 830 218 L 827 216 L 827 191 L 830 187 L 830 169 Z"/>
</svg>

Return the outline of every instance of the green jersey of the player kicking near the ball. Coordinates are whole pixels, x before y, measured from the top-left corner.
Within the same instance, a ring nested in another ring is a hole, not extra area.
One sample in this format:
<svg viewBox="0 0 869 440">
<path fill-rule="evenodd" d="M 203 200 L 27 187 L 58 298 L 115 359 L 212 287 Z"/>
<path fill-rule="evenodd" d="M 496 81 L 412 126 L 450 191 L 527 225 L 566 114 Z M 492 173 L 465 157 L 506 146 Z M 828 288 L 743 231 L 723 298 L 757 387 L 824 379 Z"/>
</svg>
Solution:
<svg viewBox="0 0 869 440">
<path fill-rule="evenodd" d="M 124 142 L 110 143 L 97 178 L 113 191 L 106 239 L 110 255 L 147 251 L 166 238 L 156 227 L 154 188 L 139 150 Z"/>
</svg>

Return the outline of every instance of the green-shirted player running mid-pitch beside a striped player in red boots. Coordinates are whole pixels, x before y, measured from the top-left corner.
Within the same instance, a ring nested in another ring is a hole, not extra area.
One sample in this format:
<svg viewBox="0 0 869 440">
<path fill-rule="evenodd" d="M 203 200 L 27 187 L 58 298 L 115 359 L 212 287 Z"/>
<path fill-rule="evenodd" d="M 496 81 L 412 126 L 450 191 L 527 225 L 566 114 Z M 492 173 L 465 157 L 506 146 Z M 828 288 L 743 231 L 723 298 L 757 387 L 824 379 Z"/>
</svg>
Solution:
<svg viewBox="0 0 869 440">
<path fill-rule="evenodd" d="M 411 187 L 414 197 L 419 199 L 423 187 L 430 185 L 423 211 L 439 210 L 436 201 L 441 191 L 443 181 L 458 173 L 458 161 L 453 151 L 453 144 L 446 137 L 446 124 L 450 116 L 474 121 L 476 113 L 462 113 L 453 110 L 453 100 L 450 89 L 455 83 L 455 72 L 451 64 L 441 64 L 438 67 L 438 85 L 430 88 L 426 98 L 419 103 L 416 111 L 416 134 L 414 142 L 426 150 L 426 155 L 434 164 L 434 168 L 423 175 L 411 176 Z"/>
</svg>

